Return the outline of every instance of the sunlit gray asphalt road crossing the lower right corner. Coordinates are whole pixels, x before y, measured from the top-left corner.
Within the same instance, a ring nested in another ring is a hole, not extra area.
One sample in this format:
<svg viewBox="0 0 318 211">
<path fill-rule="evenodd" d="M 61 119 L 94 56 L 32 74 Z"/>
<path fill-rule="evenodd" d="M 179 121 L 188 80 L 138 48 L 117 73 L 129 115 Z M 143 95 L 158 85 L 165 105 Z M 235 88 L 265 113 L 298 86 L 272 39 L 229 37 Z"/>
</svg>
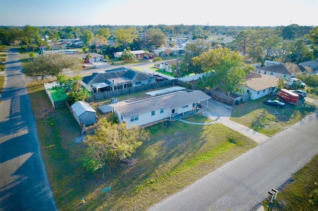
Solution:
<svg viewBox="0 0 318 211">
<path fill-rule="evenodd" d="M 250 211 L 317 152 L 318 114 L 313 114 L 149 211 Z"/>
</svg>

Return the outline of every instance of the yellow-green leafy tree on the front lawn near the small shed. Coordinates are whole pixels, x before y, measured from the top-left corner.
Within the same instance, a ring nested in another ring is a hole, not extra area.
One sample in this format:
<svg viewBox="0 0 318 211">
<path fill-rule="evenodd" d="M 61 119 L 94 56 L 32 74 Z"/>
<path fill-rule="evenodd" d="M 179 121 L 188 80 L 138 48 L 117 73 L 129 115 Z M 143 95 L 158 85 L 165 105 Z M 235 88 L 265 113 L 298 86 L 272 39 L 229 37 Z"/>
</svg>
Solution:
<svg viewBox="0 0 318 211">
<path fill-rule="evenodd" d="M 84 155 L 84 165 L 103 175 L 111 164 L 128 161 L 135 150 L 149 139 L 149 132 L 139 127 L 128 129 L 125 123 L 113 124 L 102 119 L 93 135 L 86 137 L 88 149 Z"/>
</svg>

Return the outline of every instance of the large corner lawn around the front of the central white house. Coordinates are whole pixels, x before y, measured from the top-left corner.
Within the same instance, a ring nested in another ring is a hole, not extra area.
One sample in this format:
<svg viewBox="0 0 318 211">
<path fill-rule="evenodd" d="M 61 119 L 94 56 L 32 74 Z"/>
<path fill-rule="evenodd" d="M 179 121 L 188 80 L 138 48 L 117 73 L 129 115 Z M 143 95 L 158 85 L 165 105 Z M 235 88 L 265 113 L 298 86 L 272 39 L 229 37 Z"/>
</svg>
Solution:
<svg viewBox="0 0 318 211">
<path fill-rule="evenodd" d="M 146 210 L 256 146 L 254 141 L 221 124 L 189 125 L 176 121 L 165 128 L 160 123 L 146 128 L 151 140 L 133 155 L 135 164 L 114 165 L 103 180 L 100 174 L 88 173 L 81 167 L 79 157 L 86 146 L 74 141 L 80 136 L 80 129 L 70 111 L 54 110 L 40 82 L 29 84 L 28 92 L 60 211 L 108 209 L 106 194 L 101 193 L 108 186 L 112 187 L 111 210 Z M 210 121 L 201 115 L 188 120 Z M 87 203 L 79 206 L 81 197 Z"/>
</svg>

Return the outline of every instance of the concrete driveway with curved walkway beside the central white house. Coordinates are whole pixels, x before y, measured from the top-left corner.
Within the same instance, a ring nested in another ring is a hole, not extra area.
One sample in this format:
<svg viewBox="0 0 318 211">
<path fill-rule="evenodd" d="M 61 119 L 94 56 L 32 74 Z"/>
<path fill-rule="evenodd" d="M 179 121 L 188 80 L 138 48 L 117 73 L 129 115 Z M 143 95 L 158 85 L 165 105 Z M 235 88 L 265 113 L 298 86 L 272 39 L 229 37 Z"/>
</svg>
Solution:
<svg viewBox="0 0 318 211">
<path fill-rule="evenodd" d="M 267 141 L 270 139 L 270 137 L 257 133 L 256 131 L 253 131 L 243 125 L 240 125 L 236 122 L 231 121 L 230 118 L 231 118 L 232 110 L 233 110 L 231 106 L 225 105 L 223 103 L 220 103 L 212 99 L 209 99 L 208 101 L 208 108 L 207 108 L 206 102 L 202 102 L 201 105 L 202 105 L 202 112 L 200 112 L 200 114 L 214 120 L 214 122 L 193 123 L 193 122 L 185 121 L 182 119 L 179 119 L 178 121 L 185 122 L 188 124 L 195 124 L 195 125 L 211 125 L 215 123 L 221 123 L 222 125 L 225 125 L 228 128 L 231 128 L 232 130 L 237 131 L 240 134 L 250 138 L 251 140 L 255 141 L 258 144 L 263 143 L 264 141 Z"/>
</svg>

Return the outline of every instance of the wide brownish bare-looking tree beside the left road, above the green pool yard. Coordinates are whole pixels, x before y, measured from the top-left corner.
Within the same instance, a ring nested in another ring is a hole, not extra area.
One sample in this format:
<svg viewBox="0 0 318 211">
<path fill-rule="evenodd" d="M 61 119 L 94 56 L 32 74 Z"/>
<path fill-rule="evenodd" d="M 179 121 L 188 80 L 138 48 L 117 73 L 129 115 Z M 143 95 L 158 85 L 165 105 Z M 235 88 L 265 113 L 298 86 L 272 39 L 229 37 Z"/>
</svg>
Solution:
<svg viewBox="0 0 318 211">
<path fill-rule="evenodd" d="M 37 79 L 47 76 L 57 77 L 64 71 L 79 72 L 82 68 L 83 60 L 65 54 L 40 54 L 27 64 L 24 74 L 28 77 Z"/>
</svg>

